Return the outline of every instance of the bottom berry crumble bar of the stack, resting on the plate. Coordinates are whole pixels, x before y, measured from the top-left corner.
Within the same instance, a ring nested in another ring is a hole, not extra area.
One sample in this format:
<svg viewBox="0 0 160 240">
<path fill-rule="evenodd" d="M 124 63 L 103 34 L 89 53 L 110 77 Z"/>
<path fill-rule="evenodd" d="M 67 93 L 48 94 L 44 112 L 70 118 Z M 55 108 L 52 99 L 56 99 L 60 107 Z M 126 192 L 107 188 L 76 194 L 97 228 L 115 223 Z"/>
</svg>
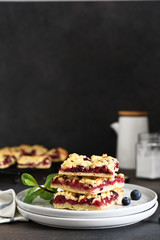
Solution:
<svg viewBox="0 0 160 240">
<path fill-rule="evenodd" d="M 94 195 L 63 191 L 55 194 L 53 205 L 54 208 L 59 209 L 67 208 L 83 211 L 105 210 L 115 204 L 121 204 L 122 198 L 123 190 L 120 188 Z"/>
</svg>

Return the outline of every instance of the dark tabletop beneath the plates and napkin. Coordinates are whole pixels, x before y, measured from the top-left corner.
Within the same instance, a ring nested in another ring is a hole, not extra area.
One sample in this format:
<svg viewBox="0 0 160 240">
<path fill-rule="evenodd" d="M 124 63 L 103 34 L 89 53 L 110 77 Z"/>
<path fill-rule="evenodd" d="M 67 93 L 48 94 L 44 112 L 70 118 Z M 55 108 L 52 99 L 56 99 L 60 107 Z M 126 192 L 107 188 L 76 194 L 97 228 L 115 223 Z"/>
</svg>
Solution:
<svg viewBox="0 0 160 240">
<path fill-rule="evenodd" d="M 145 180 L 137 179 L 133 170 L 121 170 L 125 175 L 129 176 L 130 183 L 138 184 L 154 190 L 160 199 L 160 179 Z M 47 172 L 33 174 L 40 184 L 44 183 L 44 177 Z M 13 188 L 16 193 L 26 188 L 21 182 L 15 183 L 15 176 L 0 174 L 0 190 Z M 17 181 L 18 182 L 18 181 Z M 18 240 L 18 239 L 61 239 L 61 240 L 80 240 L 80 239 L 108 239 L 108 240 L 154 240 L 160 239 L 160 224 L 158 223 L 158 215 L 160 215 L 160 207 L 154 215 L 134 225 L 103 230 L 71 230 L 46 227 L 29 222 L 5 223 L 0 226 L 0 240 Z"/>
</svg>

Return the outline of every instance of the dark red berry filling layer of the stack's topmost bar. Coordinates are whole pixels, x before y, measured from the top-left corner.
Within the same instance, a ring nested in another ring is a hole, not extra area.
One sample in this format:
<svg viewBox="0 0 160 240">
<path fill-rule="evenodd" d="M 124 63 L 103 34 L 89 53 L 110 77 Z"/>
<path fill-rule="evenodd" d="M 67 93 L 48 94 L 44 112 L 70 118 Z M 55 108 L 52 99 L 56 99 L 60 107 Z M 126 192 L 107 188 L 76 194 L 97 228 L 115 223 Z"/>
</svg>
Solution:
<svg viewBox="0 0 160 240">
<path fill-rule="evenodd" d="M 102 166 L 102 167 L 95 167 L 95 168 L 91 168 L 91 167 L 83 167 L 78 165 L 77 167 L 72 167 L 72 168 L 61 168 L 60 171 L 62 172 L 83 172 L 83 173 L 110 173 L 113 174 L 113 172 L 108 169 L 106 166 Z"/>
</svg>

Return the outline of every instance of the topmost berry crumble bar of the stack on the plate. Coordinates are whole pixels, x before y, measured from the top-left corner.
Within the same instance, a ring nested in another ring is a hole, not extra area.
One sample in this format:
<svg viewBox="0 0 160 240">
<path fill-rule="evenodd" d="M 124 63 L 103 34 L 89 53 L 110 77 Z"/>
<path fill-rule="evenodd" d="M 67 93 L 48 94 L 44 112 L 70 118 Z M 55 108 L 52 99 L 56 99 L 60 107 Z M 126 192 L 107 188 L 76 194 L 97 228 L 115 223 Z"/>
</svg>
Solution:
<svg viewBox="0 0 160 240">
<path fill-rule="evenodd" d="M 111 177 L 118 171 L 116 158 L 103 154 L 102 156 L 92 155 L 88 158 L 76 153 L 70 154 L 59 170 L 60 175 Z"/>
</svg>

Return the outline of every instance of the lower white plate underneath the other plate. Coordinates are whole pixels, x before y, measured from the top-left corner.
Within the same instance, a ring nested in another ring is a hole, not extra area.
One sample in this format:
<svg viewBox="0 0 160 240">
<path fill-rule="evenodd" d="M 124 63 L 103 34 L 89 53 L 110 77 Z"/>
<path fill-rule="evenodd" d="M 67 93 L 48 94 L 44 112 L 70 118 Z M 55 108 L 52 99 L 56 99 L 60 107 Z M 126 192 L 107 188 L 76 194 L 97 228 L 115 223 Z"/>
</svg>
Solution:
<svg viewBox="0 0 160 240">
<path fill-rule="evenodd" d="M 131 225 L 142 221 L 143 219 L 150 217 L 156 211 L 158 202 L 147 211 L 137 214 L 112 218 L 94 218 L 94 219 L 82 219 L 82 218 L 58 218 L 39 215 L 31 212 L 27 212 L 18 207 L 19 212 L 25 217 L 36 223 L 58 228 L 75 228 L 75 229 L 102 229 L 102 228 L 115 228 Z"/>
</svg>

